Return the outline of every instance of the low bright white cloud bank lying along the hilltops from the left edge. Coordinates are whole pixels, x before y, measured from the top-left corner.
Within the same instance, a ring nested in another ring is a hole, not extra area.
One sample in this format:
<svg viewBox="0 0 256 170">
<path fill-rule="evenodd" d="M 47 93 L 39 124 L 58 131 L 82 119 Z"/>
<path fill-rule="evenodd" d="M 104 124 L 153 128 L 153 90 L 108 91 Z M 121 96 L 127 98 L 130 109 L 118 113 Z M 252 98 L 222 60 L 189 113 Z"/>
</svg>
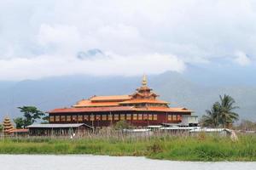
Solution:
<svg viewBox="0 0 256 170">
<path fill-rule="evenodd" d="M 174 55 L 147 54 L 106 58 L 78 59 L 68 56 L 44 55 L 37 58 L 0 59 L 0 80 L 38 79 L 50 76 L 87 74 L 94 76 L 135 76 L 159 74 L 165 71 L 182 72 L 185 65 Z"/>
</svg>

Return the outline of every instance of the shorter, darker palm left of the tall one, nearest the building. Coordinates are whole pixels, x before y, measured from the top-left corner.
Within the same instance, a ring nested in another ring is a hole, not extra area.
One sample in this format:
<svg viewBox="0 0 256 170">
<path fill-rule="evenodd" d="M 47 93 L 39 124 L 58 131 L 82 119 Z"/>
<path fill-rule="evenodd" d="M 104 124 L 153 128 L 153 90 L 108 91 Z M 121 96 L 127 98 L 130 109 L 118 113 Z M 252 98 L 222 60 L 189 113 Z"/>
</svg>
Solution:
<svg viewBox="0 0 256 170">
<path fill-rule="evenodd" d="M 219 116 L 219 111 L 220 111 L 220 104 L 218 102 L 215 102 L 212 105 L 211 110 L 207 110 L 207 115 L 202 116 L 202 123 L 204 126 L 210 126 L 210 127 L 218 127 L 219 121 L 218 121 L 218 116 Z"/>
</svg>

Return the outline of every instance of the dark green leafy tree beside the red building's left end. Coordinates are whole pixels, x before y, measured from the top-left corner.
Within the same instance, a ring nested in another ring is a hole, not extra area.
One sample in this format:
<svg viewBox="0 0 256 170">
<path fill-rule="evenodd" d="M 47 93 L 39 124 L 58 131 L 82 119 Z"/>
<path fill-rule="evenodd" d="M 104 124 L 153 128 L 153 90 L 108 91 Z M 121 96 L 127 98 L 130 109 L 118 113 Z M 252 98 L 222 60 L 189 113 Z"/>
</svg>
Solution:
<svg viewBox="0 0 256 170">
<path fill-rule="evenodd" d="M 24 127 L 31 125 L 32 123 L 36 122 L 38 119 L 41 119 L 44 116 L 44 112 L 39 111 L 38 108 L 35 106 L 23 106 L 18 108 L 24 116 Z"/>
</svg>

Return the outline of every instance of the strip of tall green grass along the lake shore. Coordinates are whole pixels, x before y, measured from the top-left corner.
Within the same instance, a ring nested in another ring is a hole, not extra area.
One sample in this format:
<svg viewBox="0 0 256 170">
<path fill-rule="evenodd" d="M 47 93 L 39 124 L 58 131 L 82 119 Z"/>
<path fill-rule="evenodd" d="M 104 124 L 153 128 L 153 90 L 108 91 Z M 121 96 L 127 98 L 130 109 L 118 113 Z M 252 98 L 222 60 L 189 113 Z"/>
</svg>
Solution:
<svg viewBox="0 0 256 170">
<path fill-rule="evenodd" d="M 234 142 L 219 136 L 23 138 L 0 140 L 0 154 L 93 154 L 146 156 L 178 161 L 256 161 L 256 136 Z"/>
</svg>

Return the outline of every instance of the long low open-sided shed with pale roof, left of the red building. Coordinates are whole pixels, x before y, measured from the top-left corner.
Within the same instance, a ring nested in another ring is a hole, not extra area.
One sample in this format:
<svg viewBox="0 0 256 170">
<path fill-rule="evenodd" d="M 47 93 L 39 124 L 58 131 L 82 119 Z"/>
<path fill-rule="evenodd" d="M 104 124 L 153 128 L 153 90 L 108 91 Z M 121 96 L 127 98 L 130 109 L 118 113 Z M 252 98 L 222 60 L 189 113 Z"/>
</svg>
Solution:
<svg viewBox="0 0 256 170">
<path fill-rule="evenodd" d="M 65 123 L 65 124 L 32 124 L 27 127 L 32 136 L 68 136 L 83 135 L 93 129 L 84 123 Z"/>
</svg>

